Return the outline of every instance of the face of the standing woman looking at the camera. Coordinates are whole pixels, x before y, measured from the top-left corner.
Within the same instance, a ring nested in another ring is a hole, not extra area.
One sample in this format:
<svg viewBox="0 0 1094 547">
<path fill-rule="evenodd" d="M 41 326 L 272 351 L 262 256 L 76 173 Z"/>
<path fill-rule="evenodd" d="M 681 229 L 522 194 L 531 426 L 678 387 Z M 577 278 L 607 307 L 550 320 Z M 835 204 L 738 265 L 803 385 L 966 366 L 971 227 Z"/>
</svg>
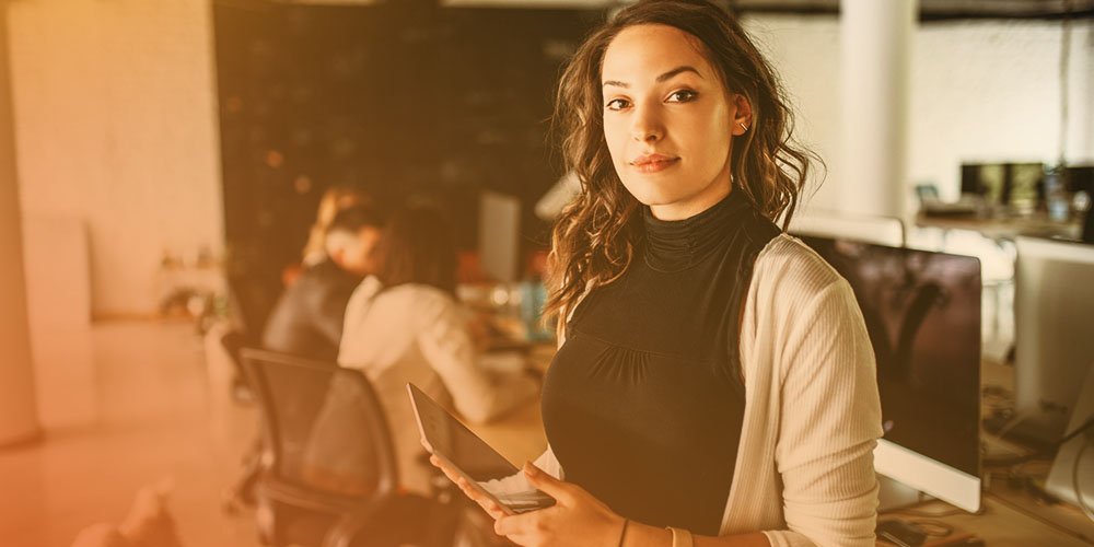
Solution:
<svg viewBox="0 0 1094 547">
<path fill-rule="evenodd" d="M 627 190 L 662 220 L 702 212 L 730 193 L 730 141 L 752 121 L 747 101 L 724 89 L 701 47 L 678 28 L 636 25 L 604 54 L 612 162 Z"/>
</svg>

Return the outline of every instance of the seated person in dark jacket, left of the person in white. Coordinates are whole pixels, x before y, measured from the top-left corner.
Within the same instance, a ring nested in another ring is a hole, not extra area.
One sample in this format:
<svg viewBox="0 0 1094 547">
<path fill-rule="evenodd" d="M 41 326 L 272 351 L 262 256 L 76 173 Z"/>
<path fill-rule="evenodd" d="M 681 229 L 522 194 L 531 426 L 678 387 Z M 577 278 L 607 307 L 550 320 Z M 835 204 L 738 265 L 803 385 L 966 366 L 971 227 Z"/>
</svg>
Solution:
<svg viewBox="0 0 1094 547">
<path fill-rule="evenodd" d="M 381 222 L 361 207 L 339 212 L 327 228 L 326 258 L 307 266 L 274 307 L 263 346 L 321 361 L 338 357 L 346 304 L 369 274 L 369 254 Z"/>
</svg>

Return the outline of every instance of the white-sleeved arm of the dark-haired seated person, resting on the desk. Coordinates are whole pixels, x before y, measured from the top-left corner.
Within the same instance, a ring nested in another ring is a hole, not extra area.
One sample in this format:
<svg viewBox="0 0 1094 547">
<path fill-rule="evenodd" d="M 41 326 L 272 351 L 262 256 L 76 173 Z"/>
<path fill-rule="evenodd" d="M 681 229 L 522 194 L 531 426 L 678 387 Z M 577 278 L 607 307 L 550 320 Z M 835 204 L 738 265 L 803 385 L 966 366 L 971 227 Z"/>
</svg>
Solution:
<svg viewBox="0 0 1094 547">
<path fill-rule="evenodd" d="M 423 302 L 418 335 L 422 354 L 441 376 L 456 410 L 469 421 L 490 421 L 532 399 L 539 386 L 522 374 L 488 374 L 475 362 L 475 348 L 467 325 L 454 302 Z"/>
</svg>

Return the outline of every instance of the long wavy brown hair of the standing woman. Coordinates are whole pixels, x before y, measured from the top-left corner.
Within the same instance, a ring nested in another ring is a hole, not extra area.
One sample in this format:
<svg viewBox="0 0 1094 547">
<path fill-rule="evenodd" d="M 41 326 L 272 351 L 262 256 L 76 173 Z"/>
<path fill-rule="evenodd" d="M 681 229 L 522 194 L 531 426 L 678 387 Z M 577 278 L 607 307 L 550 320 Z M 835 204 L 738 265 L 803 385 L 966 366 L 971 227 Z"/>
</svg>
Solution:
<svg viewBox="0 0 1094 547">
<path fill-rule="evenodd" d="M 643 24 L 673 26 L 698 38 L 726 91 L 750 103 L 752 126 L 732 147 L 734 191 L 743 191 L 768 219 L 781 217 L 783 229 L 790 224 L 810 165 L 819 161 L 791 142 L 793 114 L 782 85 L 730 13 L 705 0 L 648 0 L 625 8 L 581 45 L 555 98 L 552 128 L 562 137 L 566 167 L 581 183 L 551 234 L 544 315 L 558 316 L 560 334 L 567 312 L 586 290 L 617 279 L 644 236 L 641 203 L 620 182 L 604 139 L 601 88 L 608 45 L 625 28 Z"/>
</svg>

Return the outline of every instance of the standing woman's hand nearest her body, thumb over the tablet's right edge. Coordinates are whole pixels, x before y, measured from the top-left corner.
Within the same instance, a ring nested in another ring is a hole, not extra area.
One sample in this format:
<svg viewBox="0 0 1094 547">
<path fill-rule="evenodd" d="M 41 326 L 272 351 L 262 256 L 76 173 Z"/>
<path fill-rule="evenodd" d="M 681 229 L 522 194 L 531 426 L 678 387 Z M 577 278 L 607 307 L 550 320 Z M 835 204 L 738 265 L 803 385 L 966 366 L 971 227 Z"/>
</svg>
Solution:
<svg viewBox="0 0 1094 547">
<path fill-rule="evenodd" d="M 528 482 L 555 498 L 555 505 L 517 515 L 503 515 L 493 531 L 526 547 L 618 545 L 624 520 L 578 485 L 558 480 L 527 463 Z"/>
</svg>

